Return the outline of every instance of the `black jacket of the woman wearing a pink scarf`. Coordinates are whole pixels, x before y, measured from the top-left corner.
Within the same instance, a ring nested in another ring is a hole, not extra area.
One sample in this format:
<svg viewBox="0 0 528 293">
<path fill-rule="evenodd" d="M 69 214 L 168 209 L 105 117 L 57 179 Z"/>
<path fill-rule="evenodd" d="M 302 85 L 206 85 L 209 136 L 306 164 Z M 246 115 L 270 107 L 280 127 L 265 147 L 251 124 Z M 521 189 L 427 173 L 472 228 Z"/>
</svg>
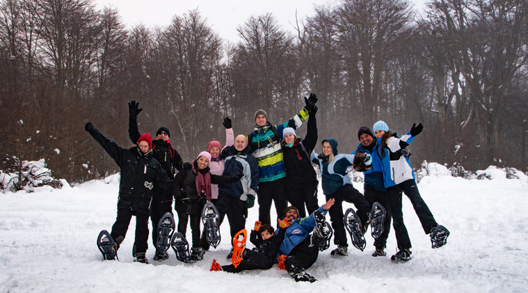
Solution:
<svg viewBox="0 0 528 293">
<path fill-rule="evenodd" d="M 195 169 L 196 168 L 196 162 Z M 209 167 L 198 171 L 205 174 L 209 173 Z M 211 184 L 228 184 L 236 182 L 237 177 L 225 175 L 211 175 Z M 176 174 L 173 184 L 174 209 L 178 212 L 187 214 L 201 214 L 206 203 L 205 194 L 202 196 L 196 190 L 196 174 L 193 169 L 182 169 Z"/>
</svg>

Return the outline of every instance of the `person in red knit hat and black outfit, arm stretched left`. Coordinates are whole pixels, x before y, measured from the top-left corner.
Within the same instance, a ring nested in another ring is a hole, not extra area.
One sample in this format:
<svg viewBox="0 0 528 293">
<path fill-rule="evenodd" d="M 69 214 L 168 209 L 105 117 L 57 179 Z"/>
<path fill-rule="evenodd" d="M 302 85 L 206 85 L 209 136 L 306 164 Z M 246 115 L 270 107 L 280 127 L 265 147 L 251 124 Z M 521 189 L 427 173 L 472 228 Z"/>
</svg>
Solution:
<svg viewBox="0 0 528 293">
<path fill-rule="evenodd" d="M 136 216 L 136 237 L 132 255 L 134 261 L 148 263 L 145 253 L 148 248 L 148 218 L 150 201 L 154 187 L 170 192 L 173 180 L 152 157 L 152 138 L 143 134 L 132 148 L 120 148 L 117 143 L 102 135 L 92 123 L 86 123 L 84 129 L 102 146 L 120 168 L 118 216 L 112 226 L 109 237 L 98 239 L 101 243 L 120 244 L 125 240 L 132 216 Z M 108 258 L 103 251 L 103 256 Z"/>
</svg>

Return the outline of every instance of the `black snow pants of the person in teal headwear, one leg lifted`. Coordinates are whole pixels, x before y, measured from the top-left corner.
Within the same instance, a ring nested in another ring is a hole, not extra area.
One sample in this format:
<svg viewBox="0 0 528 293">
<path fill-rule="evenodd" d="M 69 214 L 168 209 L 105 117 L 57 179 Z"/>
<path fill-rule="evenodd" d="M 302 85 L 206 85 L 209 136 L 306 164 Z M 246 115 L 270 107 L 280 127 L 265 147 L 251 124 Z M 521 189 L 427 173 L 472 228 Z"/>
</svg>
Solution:
<svg viewBox="0 0 528 293">
<path fill-rule="evenodd" d="M 343 202 L 346 201 L 346 203 L 355 205 L 362 223 L 368 221 L 368 213 L 370 212 L 369 202 L 367 202 L 365 197 L 352 184 L 344 184 L 343 187 L 334 193 L 326 195 L 326 201 L 330 200 L 330 198 L 335 199 L 334 205 L 328 209 L 332 228 L 334 228 L 334 244 L 348 247 L 349 244 L 346 243 L 346 231 L 343 223 Z"/>
</svg>

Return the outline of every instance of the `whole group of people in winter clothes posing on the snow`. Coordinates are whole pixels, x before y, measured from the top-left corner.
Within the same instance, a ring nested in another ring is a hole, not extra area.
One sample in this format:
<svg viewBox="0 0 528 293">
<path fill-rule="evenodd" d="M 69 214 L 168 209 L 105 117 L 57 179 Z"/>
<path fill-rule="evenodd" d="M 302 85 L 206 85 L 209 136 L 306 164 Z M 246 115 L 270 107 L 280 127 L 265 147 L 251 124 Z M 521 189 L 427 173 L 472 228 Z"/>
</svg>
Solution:
<svg viewBox="0 0 528 293">
<path fill-rule="evenodd" d="M 322 152 L 317 154 L 317 96 L 305 97 L 305 107 L 279 125 L 272 125 L 264 110 L 255 113 L 255 129 L 248 135 L 234 137 L 232 122 L 225 118 L 226 142 L 222 148 L 218 141 L 207 144 L 191 162 L 185 162 L 170 145 L 170 132 L 160 127 L 156 138 L 138 131 L 137 116 L 142 111 L 138 103 L 129 103 L 129 137 L 134 146 L 120 148 L 103 136 L 92 123 L 87 132 L 106 150 L 120 167 L 120 189 L 117 219 L 110 236 L 119 247 L 131 220 L 136 216 L 136 238 L 132 254 L 134 260 L 147 263 L 145 253 L 148 239 L 148 217 L 152 221 L 152 242 L 158 239 L 158 222 L 163 214 L 177 212 L 177 231 L 186 235 L 190 220 L 191 258 L 202 260 L 209 249 L 205 230 L 200 230 L 200 216 L 205 203 L 216 205 L 219 224 L 225 216 L 230 223 L 233 238 L 246 227 L 248 209 L 259 205 L 258 223 L 251 232 L 252 250 L 243 251 L 238 266 L 220 266 L 214 260 L 211 270 L 237 272 L 246 269 L 269 269 L 274 263 L 286 269 L 297 281 L 316 280 L 305 270 L 314 264 L 319 244 L 328 241 L 325 215 L 330 214 L 334 231 L 331 255 L 347 255 L 344 212 L 342 203 L 352 203 L 357 209 L 363 232 L 370 222 L 372 205 L 385 207 L 383 233 L 374 241 L 372 256 L 385 256 L 384 251 L 393 221 L 399 251 L 394 261 L 412 258 L 410 239 L 403 223 L 402 193 L 410 198 L 426 234 L 431 235 L 433 248 L 440 247 L 449 235 L 447 229 L 436 223 L 433 214 L 419 194 L 413 169 L 408 161 L 406 146 L 422 132 L 422 125 L 413 125 L 410 132 L 393 134 L 387 124 L 378 121 L 373 130 L 361 127 L 360 144 L 351 154 L 339 154 L 337 141 L 326 138 L 321 142 Z M 296 129 L 307 120 L 305 138 L 296 135 Z M 354 157 L 362 155 L 365 171 L 364 193 L 355 189 L 347 173 Z M 319 181 L 314 165 L 319 166 L 326 203 L 319 206 Z M 288 202 L 291 204 L 288 206 Z M 271 205 L 275 204 L 280 227 L 271 226 Z M 233 248 L 227 258 L 231 259 Z M 166 260 L 168 254 L 156 251 L 154 260 Z"/>
</svg>

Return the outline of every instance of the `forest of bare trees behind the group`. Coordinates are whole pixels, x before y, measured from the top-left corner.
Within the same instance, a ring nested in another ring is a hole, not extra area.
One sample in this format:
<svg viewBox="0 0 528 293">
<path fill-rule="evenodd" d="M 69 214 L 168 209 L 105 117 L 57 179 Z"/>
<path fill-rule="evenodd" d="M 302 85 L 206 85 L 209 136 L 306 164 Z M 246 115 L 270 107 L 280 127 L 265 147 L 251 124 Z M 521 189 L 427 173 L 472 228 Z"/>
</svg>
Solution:
<svg viewBox="0 0 528 293">
<path fill-rule="evenodd" d="M 298 19 L 295 33 L 273 13 L 252 16 L 236 44 L 211 26 L 198 10 L 127 29 L 90 0 L 1 0 L 1 161 L 45 158 L 72 183 L 113 173 L 84 125 L 131 146 L 129 100 L 143 108 L 140 131 L 168 127 L 189 161 L 224 141 L 223 117 L 248 134 L 257 109 L 285 122 L 316 93 L 319 138 L 336 138 L 339 152 L 355 150 L 363 125 L 385 120 L 403 134 L 422 122 L 415 167 L 527 171 L 526 0 L 432 0 L 422 11 L 408 0 L 336 0 Z"/>
</svg>

